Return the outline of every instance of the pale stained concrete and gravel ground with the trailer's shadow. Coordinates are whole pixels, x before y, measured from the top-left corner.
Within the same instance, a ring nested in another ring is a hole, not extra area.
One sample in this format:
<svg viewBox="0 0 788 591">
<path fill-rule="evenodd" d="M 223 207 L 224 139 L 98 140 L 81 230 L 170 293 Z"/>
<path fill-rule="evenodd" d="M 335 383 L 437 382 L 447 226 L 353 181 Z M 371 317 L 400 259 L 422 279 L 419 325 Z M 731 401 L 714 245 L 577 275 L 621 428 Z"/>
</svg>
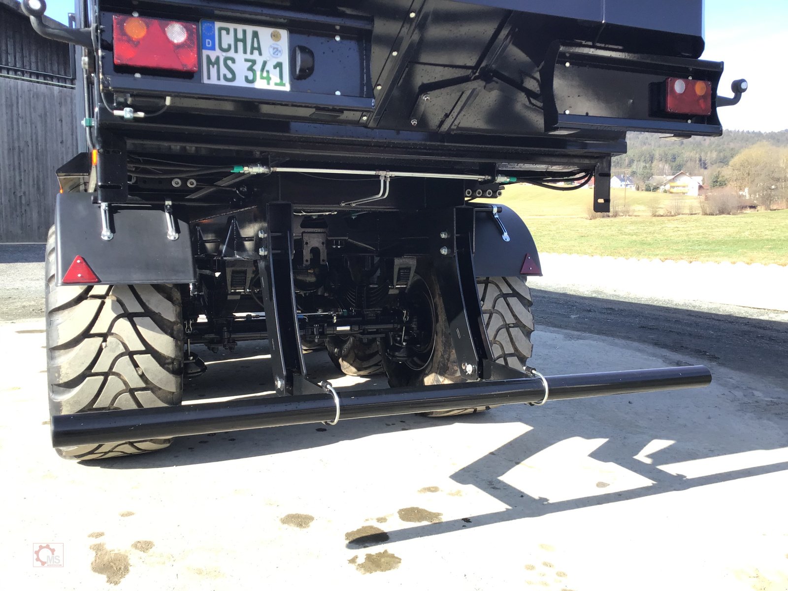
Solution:
<svg viewBox="0 0 788 591">
<path fill-rule="evenodd" d="M 0 265 L 0 282 L 28 264 Z M 37 294 L 20 280 L 11 299 L 39 310 Z M 441 420 L 182 437 L 151 455 L 72 463 L 49 446 L 43 320 L 6 316 L 5 584 L 788 589 L 788 325 L 546 289 L 535 299 L 533 366 L 545 374 L 701 362 L 714 381 Z M 252 344 L 204 355 L 210 369 L 188 399 L 268 391 L 266 356 Z M 324 353 L 307 362 L 336 386 L 385 386 L 337 377 Z M 35 567 L 39 545 L 62 567 Z"/>
</svg>

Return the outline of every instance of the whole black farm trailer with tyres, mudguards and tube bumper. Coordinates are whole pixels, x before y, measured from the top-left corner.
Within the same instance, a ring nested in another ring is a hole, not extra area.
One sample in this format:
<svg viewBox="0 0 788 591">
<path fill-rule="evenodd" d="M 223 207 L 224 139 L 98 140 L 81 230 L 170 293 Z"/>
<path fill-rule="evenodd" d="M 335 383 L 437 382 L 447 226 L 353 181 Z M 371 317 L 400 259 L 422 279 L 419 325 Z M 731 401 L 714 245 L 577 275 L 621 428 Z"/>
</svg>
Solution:
<svg viewBox="0 0 788 591">
<path fill-rule="evenodd" d="M 53 444 L 95 459 L 217 429 L 708 384 L 527 366 L 537 247 L 514 183 L 608 211 L 627 131 L 719 136 L 702 2 L 78 0 L 87 150 L 47 246 Z M 680 15 L 680 17 L 678 17 Z M 180 406 L 200 346 L 268 340 L 278 396 Z M 336 392 L 305 353 L 385 373 Z M 107 412 L 112 411 L 112 412 Z"/>
</svg>

